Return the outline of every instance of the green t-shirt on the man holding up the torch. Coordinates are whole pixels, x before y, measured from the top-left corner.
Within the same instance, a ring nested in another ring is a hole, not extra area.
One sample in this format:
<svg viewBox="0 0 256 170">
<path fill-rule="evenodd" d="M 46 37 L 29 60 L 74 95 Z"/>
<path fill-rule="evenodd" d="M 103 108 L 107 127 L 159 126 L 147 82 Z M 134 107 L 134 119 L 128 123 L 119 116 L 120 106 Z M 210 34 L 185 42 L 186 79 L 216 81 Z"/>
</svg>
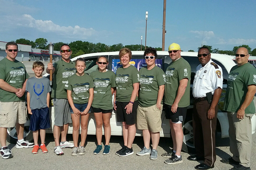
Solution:
<svg viewBox="0 0 256 170">
<path fill-rule="evenodd" d="M 64 89 L 64 85 L 67 82 L 67 78 L 76 73 L 76 64 L 70 60 L 69 63 L 62 59 L 53 64 L 55 68 L 52 81 L 52 98 L 67 99 L 67 91 Z"/>
</svg>

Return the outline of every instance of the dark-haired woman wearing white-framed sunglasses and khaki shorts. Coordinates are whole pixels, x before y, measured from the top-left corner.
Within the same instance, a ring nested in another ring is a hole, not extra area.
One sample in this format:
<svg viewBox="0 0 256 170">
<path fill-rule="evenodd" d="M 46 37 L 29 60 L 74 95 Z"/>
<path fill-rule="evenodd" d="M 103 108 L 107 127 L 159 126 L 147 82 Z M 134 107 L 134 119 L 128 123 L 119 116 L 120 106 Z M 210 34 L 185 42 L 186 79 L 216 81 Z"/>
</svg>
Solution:
<svg viewBox="0 0 256 170">
<path fill-rule="evenodd" d="M 144 52 L 147 67 L 139 70 L 139 106 L 137 109 L 137 128 L 143 132 L 144 147 L 137 155 L 150 155 L 157 159 L 157 146 L 162 130 L 161 115 L 163 110 L 163 94 L 165 90 L 165 73 L 156 66 L 156 49 L 148 48 Z M 150 138 L 152 150 L 150 149 Z"/>
</svg>

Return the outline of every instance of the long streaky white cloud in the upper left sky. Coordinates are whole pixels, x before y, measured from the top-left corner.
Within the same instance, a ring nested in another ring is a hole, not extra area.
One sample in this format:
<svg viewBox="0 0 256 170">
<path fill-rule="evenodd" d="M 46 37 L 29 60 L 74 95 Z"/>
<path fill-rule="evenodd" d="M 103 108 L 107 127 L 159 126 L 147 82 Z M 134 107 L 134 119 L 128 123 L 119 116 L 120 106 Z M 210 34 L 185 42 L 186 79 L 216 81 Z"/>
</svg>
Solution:
<svg viewBox="0 0 256 170">
<path fill-rule="evenodd" d="M 29 27 L 39 32 L 52 32 L 69 38 L 87 39 L 97 33 L 93 28 L 81 28 L 79 26 L 59 26 L 51 20 L 35 19 L 31 15 L 24 14 L 16 20 L 17 26 Z"/>
</svg>

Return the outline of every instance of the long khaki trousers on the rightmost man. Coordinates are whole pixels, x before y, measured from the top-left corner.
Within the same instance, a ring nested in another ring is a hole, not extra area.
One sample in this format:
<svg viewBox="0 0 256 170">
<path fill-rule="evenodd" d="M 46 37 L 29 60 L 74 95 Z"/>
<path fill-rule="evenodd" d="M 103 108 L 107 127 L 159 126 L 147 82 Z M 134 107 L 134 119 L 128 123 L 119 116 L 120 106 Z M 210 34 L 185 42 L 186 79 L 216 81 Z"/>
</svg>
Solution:
<svg viewBox="0 0 256 170">
<path fill-rule="evenodd" d="M 236 113 L 228 112 L 230 152 L 233 159 L 245 167 L 250 167 L 252 152 L 252 121 L 253 114 L 245 114 L 238 119 Z"/>
</svg>

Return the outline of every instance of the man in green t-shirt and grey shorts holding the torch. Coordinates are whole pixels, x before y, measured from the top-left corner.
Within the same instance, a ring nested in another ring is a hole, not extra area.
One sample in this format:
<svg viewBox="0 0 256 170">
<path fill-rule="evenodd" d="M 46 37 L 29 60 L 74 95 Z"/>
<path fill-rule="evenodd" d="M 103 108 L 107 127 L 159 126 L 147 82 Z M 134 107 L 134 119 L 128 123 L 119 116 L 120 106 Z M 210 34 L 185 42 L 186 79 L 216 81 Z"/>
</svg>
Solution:
<svg viewBox="0 0 256 170">
<path fill-rule="evenodd" d="M 46 72 L 49 74 L 52 70 L 53 85 L 52 98 L 54 106 L 54 127 L 53 136 L 55 141 L 54 152 L 56 155 L 63 155 L 62 148 L 72 148 L 73 143 L 66 141 L 68 124 L 72 123 L 69 103 L 67 101 L 67 91 L 64 86 L 67 83 L 67 78 L 75 74 L 75 63 L 70 60 L 72 51 L 69 45 L 63 44 L 61 46 L 61 60 L 54 64 L 48 63 Z M 59 142 L 61 133 L 61 142 Z"/>
</svg>

